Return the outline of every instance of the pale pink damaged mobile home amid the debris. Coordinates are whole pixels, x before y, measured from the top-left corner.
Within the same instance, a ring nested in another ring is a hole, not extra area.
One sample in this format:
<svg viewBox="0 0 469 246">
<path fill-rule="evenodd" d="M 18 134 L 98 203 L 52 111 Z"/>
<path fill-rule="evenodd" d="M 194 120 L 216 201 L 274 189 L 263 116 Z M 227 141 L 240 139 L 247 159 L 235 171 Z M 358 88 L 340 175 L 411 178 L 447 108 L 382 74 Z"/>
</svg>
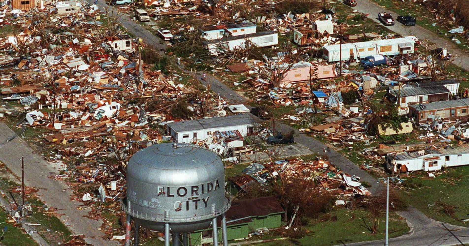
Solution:
<svg viewBox="0 0 469 246">
<path fill-rule="evenodd" d="M 285 65 L 287 67 L 288 65 Z M 337 75 L 334 65 L 317 65 L 310 62 L 299 62 L 284 73 L 282 84 L 286 87 L 289 83 L 304 82 L 310 80 L 310 72 L 316 73 L 315 79 L 328 79 Z M 314 77 L 314 75 L 313 75 Z"/>
</svg>

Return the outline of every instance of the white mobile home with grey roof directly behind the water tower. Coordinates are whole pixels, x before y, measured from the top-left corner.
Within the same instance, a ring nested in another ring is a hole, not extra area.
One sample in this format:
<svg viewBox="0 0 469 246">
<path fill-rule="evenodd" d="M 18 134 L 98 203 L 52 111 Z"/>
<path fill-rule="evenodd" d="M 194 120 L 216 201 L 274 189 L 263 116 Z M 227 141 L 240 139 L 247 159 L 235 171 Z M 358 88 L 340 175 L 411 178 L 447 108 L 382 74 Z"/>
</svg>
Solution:
<svg viewBox="0 0 469 246">
<path fill-rule="evenodd" d="M 243 137 L 254 132 L 257 123 L 249 114 L 236 114 L 227 117 L 193 119 L 167 124 L 167 132 L 175 142 L 198 142 L 205 140 L 216 131 L 238 130 Z"/>
</svg>

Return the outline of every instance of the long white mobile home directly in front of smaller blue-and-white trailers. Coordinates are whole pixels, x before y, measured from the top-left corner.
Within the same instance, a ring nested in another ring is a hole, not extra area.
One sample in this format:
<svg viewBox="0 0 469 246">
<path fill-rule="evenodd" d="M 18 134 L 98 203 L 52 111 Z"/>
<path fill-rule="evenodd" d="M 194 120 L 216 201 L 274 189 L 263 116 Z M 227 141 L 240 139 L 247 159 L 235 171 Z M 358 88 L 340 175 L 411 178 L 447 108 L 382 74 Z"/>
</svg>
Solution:
<svg viewBox="0 0 469 246">
<path fill-rule="evenodd" d="M 204 41 L 209 51 L 216 55 L 218 49 L 227 49 L 232 51 L 236 48 L 246 48 L 246 43 L 255 45 L 257 47 L 267 47 L 277 45 L 279 43 L 279 37 L 277 33 L 272 31 L 263 31 L 258 33 L 251 33 L 248 35 L 231 36 L 210 41 Z"/>
</svg>

